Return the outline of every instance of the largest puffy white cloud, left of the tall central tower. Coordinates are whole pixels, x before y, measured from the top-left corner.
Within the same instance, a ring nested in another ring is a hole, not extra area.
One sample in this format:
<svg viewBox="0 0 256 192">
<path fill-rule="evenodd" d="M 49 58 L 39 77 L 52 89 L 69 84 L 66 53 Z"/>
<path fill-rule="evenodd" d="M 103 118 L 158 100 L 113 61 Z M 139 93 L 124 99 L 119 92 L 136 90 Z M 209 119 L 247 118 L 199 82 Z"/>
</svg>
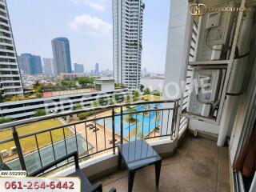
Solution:
<svg viewBox="0 0 256 192">
<path fill-rule="evenodd" d="M 69 23 L 69 26 L 72 30 L 77 30 L 94 37 L 109 36 L 112 31 L 112 25 L 110 23 L 100 18 L 90 16 L 89 14 L 82 14 L 75 17 Z"/>
</svg>

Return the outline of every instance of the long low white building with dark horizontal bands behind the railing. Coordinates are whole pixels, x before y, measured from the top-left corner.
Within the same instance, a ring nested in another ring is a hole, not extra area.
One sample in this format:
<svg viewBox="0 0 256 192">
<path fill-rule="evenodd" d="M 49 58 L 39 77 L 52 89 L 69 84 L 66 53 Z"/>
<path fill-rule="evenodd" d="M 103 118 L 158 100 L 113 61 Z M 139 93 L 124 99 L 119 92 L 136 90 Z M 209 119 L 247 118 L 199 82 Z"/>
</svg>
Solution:
<svg viewBox="0 0 256 192">
<path fill-rule="evenodd" d="M 15 120 L 32 118 L 38 109 L 44 109 L 47 113 L 54 114 L 62 110 L 73 109 L 73 104 L 76 105 L 78 103 L 81 103 L 84 107 L 90 107 L 96 99 L 109 99 L 114 94 L 126 96 L 130 93 L 126 89 L 108 92 L 97 92 L 93 89 L 93 92 L 88 93 L 56 95 L 54 97 L 27 99 L 18 102 L 2 102 L 0 103 L 0 118 L 10 117 Z"/>
</svg>

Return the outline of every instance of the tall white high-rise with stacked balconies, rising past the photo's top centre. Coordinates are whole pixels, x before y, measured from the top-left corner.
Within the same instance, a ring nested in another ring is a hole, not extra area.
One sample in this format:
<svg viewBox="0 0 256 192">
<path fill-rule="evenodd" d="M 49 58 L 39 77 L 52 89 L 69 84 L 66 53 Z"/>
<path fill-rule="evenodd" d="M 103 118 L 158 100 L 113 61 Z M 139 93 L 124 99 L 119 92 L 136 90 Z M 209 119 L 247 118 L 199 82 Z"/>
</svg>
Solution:
<svg viewBox="0 0 256 192">
<path fill-rule="evenodd" d="M 112 0 L 112 3 L 114 80 L 129 89 L 138 89 L 145 4 L 142 0 Z"/>
</svg>

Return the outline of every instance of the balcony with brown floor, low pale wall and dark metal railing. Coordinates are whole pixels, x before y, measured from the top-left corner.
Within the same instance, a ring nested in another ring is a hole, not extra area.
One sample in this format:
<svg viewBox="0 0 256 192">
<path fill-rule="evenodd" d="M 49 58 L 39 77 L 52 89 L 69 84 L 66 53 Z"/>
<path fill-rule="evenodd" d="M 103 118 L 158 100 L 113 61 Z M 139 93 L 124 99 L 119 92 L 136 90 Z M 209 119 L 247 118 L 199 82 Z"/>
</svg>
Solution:
<svg viewBox="0 0 256 192">
<path fill-rule="evenodd" d="M 218 148 L 210 139 L 186 134 L 187 119 L 178 118 L 178 108 L 179 100 L 133 102 L 2 124 L 0 129 L 12 135 L 0 141 L 1 150 L 6 150 L 2 162 L 13 170 L 27 170 L 30 174 L 78 150 L 80 166 L 91 181 L 102 181 L 106 191 L 110 186 L 126 191 L 126 171 L 117 172 L 117 146 L 145 138 L 164 158 L 159 190 L 214 191 L 218 187 L 222 189 L 219 191 L 226 191 L 230 187 L 227 148 Z M 84 120 L 69 123 L 64 120 L 88 112 L 90 115 Z M 33 123 L 52 119 L 62 123 L 31 131 L 31 126 L 37 126 Z M 30 132 L 26 133 L 25 128 Z M 72 163 L 70 160 L 45 174 L 67 176 L 74 171 Z M 134 191 L 152 189 L 154 167 L 149 166 L 136 174 Z"/>
</svg>

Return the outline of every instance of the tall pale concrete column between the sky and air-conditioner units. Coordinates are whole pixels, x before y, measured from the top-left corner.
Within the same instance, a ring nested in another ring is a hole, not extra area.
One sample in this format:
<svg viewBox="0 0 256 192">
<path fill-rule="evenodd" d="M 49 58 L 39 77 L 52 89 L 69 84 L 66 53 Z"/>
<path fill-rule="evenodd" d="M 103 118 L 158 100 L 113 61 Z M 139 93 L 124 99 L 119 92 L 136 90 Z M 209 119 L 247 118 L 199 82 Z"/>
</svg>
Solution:
<svg viewBox="0 0 256 192">
<path fill-rule="evenodd" d="M 170 21 L 166 50 L 165 81 L 163 87 L 164 99 L 182 98 L 181 82 L 186 79 L 186 61 L 188 58 L 191 29 L 191 15 L 188 6 L 188 1 L 170 1 Z M 168 104 L 166 104 L 165 107 L 170 107 L 170 105 L 168 106 Z M 179 112 L 180 111 L 181 109 Z M 167 116 L 168 113 L 164 113 L 164 123 L 162 125 L 163 133 L 166 133 Z M 169 119 L 169 125 L 171 125 L 171 114 Z M 177 125 L 177 127 L 178 126 L 179 125 Z M 178 132 L 176 135 L 177 134 Z"/>
</svg>

